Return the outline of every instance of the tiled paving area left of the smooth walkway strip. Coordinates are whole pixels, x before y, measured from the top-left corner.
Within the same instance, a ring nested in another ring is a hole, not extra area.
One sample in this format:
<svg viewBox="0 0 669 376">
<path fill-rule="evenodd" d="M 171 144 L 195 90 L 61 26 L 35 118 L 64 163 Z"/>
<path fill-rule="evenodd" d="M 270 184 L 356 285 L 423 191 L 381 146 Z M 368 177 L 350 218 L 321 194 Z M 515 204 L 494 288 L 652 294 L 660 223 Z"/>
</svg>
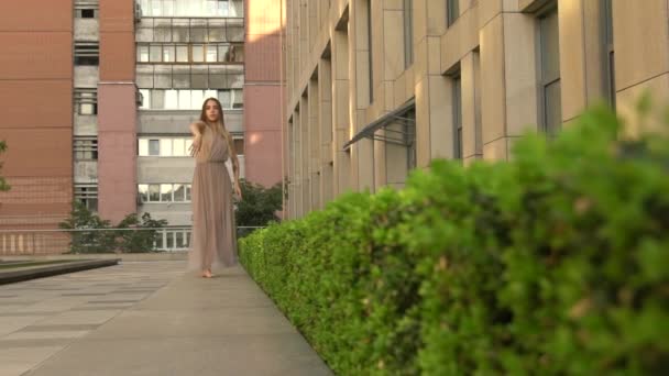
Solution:
<svg viewBox="0 0 669 376">
<path fill-rule="evenodd" d="M 165 287 L 184 268 L 179 262 L 154 262 L 150 268 L 122 263 L 0 286 L 0 376 L 25 374 Z"/>
</svg>

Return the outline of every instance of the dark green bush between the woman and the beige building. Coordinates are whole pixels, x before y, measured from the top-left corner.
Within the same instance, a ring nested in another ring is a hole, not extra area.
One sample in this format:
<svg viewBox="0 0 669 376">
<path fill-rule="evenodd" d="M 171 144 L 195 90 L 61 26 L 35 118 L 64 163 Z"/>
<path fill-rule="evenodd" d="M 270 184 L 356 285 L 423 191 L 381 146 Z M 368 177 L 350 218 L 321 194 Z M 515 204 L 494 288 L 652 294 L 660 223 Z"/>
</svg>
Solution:
<svg viewBox="0 0 669 376">
<path fill-rule="evenodd" d="M 282 208 L 282 187 L 277 183 L 271 188 L 241 179 L 240 188 L 243 199 L 237 202 L 234 219 L 238 226 L 264 226 L 272 221 L 278 221 L 276 212 Z M 250 231 L 240 229 L 240 236 Z"/>
</svg>

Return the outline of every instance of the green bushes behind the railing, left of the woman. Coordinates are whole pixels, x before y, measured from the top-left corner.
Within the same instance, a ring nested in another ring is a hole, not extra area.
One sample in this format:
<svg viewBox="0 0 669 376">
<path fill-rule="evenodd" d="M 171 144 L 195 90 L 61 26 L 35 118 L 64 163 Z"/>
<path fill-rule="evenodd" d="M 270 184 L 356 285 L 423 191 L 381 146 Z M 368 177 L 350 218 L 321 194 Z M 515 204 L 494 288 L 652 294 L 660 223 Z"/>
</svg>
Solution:
<svg viewBox="0 0 669 376">
<path fill-rule="evenodd" d="M 156 230 L 144 229 L 166 225 L 166 220 L 153 220 L 150 213 L 142 214 L 141 221 L 136 213 L 131 213 L 114 228 L 111 222 L 100 219 L 79 201 L 75 201 L 69 218 L 58 224 L 61 229 L 73 230 L 69 246 L 72 253 L 152 252 L 155 251 L 153 243 L 158 233 Z"/>
</svg>

